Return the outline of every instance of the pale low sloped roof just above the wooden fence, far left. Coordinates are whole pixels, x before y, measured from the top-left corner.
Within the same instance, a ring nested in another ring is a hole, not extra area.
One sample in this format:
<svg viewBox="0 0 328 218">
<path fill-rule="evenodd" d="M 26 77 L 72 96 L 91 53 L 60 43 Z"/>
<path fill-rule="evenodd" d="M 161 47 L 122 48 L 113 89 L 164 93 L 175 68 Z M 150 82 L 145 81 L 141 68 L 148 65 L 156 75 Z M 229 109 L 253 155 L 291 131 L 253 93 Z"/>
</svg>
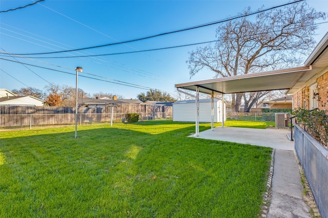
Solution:
<svg viewBox="0 0 328 218">
<path fill-rule="evenodd" d="M 0 105 L 14 105 L 14 106 L 44 106 L 44 101 L 29 96 L 8 96 L 0 98 Z"/>
</svg>

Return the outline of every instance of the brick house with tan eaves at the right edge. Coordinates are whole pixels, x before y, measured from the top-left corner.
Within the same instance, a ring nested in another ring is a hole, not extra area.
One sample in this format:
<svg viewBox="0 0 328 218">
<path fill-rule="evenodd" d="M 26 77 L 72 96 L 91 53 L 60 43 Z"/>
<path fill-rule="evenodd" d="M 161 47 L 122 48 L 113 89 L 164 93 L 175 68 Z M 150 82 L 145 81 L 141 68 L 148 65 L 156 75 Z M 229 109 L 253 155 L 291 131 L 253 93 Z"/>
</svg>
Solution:
<svg viewBox="0 0 328 218">
<path fill-rule="evenodd" d="M 293 109 L 328 110 L 328 32 L 304 65 L 312 66 L 312 70 L 305 72 L 293 89 L 286 92 L 293 94 Z"/>
</svg>

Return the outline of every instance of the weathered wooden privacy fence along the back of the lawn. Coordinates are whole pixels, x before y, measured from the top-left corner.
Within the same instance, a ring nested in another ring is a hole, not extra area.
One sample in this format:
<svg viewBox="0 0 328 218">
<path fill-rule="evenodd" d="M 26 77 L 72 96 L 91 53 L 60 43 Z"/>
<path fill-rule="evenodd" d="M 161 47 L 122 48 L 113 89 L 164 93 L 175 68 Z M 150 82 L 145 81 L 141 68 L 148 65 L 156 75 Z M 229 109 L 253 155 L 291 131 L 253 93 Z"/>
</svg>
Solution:
<svg viewBox="0 0 328 218">
<path fill-rule="evenodd" d="M 120 122 L 127 113 L 139 113 L 139 118 L 172 118 L 172 106 L 119 104 L 105 107 L 79 107 L 79 124 L 89 122 Z M 0 127 L 22 128 L 40 125 L 75 123 L 75 107 L 0 106 Z"/>
</svg>

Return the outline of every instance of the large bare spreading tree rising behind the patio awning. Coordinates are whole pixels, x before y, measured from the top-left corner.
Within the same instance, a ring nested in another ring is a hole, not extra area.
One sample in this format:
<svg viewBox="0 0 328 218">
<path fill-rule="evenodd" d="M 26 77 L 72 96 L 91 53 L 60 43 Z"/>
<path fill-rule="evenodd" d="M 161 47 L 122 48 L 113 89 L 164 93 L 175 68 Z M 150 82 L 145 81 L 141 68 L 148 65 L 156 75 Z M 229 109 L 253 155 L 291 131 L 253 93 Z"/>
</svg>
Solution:
<svg viewBox="0 0 328 218">
<path fill-rule="evenodd" d="M 247 15 L 250 8 L 243 14 Z M 247 17 L 219 26 L 215 45 L 190 52 L 190 76 L 203 68 L 215 78 L 251 74 L 298 65 L 315 45 L 314 21 L 325 18 L 304 2 L 259 13 L 254 22 Z M 296 58 L 297 57 L 297 58 Z M 232 94 L 232 111 L 239 110 L 243 93 Z"/>
</svg>

